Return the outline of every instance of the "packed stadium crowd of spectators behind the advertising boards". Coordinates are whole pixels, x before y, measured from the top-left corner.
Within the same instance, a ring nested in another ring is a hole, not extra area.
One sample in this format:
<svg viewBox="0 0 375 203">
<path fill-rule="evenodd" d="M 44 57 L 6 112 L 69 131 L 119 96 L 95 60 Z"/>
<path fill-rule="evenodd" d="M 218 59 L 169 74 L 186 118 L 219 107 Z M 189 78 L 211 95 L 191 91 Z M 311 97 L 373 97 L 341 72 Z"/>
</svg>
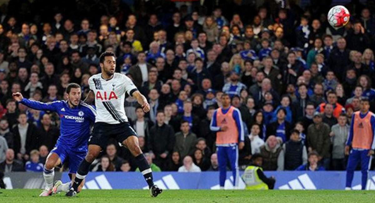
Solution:
<svg viewBox="0 0 375 203">
<path fill-rule="evenodd" d="M 132 97 L 124 105 L 153 171 L 218 169 L 210 122 L 223 93 L 246 128 L 240 169 L 260 153 L 264 170 L 345 170 L 362 96 L 375 111 L 375 6 L 366 3 L 345 5 L 351 21 L 334 29 L 330 1 L 10 0 L 0 6 L 0 172 L 43 171 L 60 131 L 58 115 L 12 93 L 52 102 L 75 82 L 84 100 L 103 51 L 150 103 L 146 114 Z M 92 170 L 136 168 L 109 142 Z"/>
</svg>

